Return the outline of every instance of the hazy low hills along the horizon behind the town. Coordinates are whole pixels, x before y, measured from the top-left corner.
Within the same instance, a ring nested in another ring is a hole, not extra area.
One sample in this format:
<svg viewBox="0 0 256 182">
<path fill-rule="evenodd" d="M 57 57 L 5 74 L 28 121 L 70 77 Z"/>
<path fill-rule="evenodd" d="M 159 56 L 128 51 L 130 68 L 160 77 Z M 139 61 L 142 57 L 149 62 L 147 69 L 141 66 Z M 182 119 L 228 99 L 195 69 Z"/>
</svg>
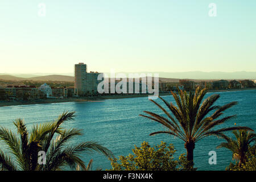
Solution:
<svg viewBox="0 0 256 182">
<path fill-rule="evenodd" d="M 256 79 L 256 72 L 138 72 L 141 73 L 159 73 L 160 80 L 167 82 L 176 82 L 179 79 L 190 79 L 190 80 L 242 80 L 242 79 Z M 45 73 L 42 73 L 44 75 Z M 110 76 L 110 73 L 106 73 Z M 115 73 L 116 75 L 118 73 Z M 129 73 L 125 73 L 128 76 Z M 32 81 L 68 81 L 72 82 L 75 80 L 72 73 L 65 73 L 65 75 L 30 75 L 30 74 L 1 74 L 0 80 L 32 80 Z"/>
</svg>

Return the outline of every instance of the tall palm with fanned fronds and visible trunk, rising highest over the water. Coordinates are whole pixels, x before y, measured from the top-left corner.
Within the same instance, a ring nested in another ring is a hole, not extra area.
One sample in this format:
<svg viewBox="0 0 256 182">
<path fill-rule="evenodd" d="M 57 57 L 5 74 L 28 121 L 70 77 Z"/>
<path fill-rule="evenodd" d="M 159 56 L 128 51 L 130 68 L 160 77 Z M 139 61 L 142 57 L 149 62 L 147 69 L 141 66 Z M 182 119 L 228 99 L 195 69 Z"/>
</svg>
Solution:
<svg viewBox="0 0 256 182">
<path fill-rule="evenodd" d="M 168 131 L 157 131 L 151 133 L 150 135 L 170 134 L 183 140 L 184 147 L 187 150 L 187 160 L 189 162 L 193 162 L 193 150 L 195 148 L 195 143 L 200 139 L 203 139 L 209 135 L 222 136 L 224 131 L 238 129 L 251 130 L 249 127 L 241 126 L 212 130 L 213 127 L 221 125 L 228 119 L 235 116 L 231 115 L 228 117 L 217 119 L 223 114 L 223 111 L 229 109 L 233 105 L 236 105 L 237 102 L 230 102 L 229 104 L 226 104 L 224 106 L 213 106 L 214 102 L 217 101 L 220 95 L 213 94 L 212 96 L 209 96 L 203 101 L 203 98 L 207 93 L 207 88 L 201 89 L 200 87 L 197 87 L 195 93 L 183 92 L 181 89 L 178 89 L 178 92 L 179 96 L 176 93 L 171 92 L 177 106 L 172 103 L 169 104 L 166 100 L 159 96 L 159 98 L 164 102 L 168 109 L 170 109 L 174 117 L 170 113 L 168 113 L 166 109 L 164 109 L 153 100 L 150 101 L 152 101 L 161 110 L 163 110 L 164 113 L 167 115 L 167 118 L 162 117 L 159 114 L 152 113 L 150 111 L 144 111 L 150 116 L 142 114 L 140 115 L 159 122 L 168 129 Z M 210 114 L 210 111 L 214 111 L 214 113 Z"/>
</svg>

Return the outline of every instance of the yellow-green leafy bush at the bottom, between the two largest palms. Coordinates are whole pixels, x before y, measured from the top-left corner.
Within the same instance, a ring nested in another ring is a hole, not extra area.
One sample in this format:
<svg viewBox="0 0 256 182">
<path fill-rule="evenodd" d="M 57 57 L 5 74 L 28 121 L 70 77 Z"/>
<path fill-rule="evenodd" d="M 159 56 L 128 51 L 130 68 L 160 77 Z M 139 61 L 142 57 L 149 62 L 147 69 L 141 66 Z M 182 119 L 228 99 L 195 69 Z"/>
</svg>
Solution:
<svg viewBox="0 0 256 182">
<path fill-rule="evenodd" d="M 151 147 L 148 142 L 142 142 L 141 147 L 134 146 L 133 154 L 112 158 L 111 165 L 114 171 L 177 171 L 192 170 L 193 165 L 187 161 L 184 154 L 174 159 L 176 152 L 173 144 L 166 146 L 161 142 Z"/>
</svg>

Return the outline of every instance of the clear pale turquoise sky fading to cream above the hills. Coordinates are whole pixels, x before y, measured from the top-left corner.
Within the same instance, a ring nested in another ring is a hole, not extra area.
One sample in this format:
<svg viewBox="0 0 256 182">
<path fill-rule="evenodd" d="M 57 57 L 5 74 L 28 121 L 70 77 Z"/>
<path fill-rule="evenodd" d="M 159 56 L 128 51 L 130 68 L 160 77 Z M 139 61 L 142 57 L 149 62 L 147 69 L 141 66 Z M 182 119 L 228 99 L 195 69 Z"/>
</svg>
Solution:
<svg viewBox="0 0 256 182">
<path fill-rule="evenodd" d="M 1 0 L 0 73 L 255 72 L 255 22 L 255 0 Z"/>
</svg>

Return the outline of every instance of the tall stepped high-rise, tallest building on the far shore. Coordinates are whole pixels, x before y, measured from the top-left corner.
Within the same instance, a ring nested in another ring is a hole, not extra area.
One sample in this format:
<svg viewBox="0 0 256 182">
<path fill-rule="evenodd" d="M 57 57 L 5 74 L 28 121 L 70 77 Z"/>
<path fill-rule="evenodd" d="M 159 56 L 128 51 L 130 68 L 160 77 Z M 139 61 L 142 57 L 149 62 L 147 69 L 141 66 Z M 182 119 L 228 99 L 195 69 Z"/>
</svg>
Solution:
<svg viewBox="0 0 256 182">
<path fill-rule="evenodd" d="M 87 73 L 87 66 L 84 63 L 75 64 L 75 94 L 86 96 L 97 94 L 97 87 L 101 80 L 97 80 L 98 72 Z"/>
</svg>

